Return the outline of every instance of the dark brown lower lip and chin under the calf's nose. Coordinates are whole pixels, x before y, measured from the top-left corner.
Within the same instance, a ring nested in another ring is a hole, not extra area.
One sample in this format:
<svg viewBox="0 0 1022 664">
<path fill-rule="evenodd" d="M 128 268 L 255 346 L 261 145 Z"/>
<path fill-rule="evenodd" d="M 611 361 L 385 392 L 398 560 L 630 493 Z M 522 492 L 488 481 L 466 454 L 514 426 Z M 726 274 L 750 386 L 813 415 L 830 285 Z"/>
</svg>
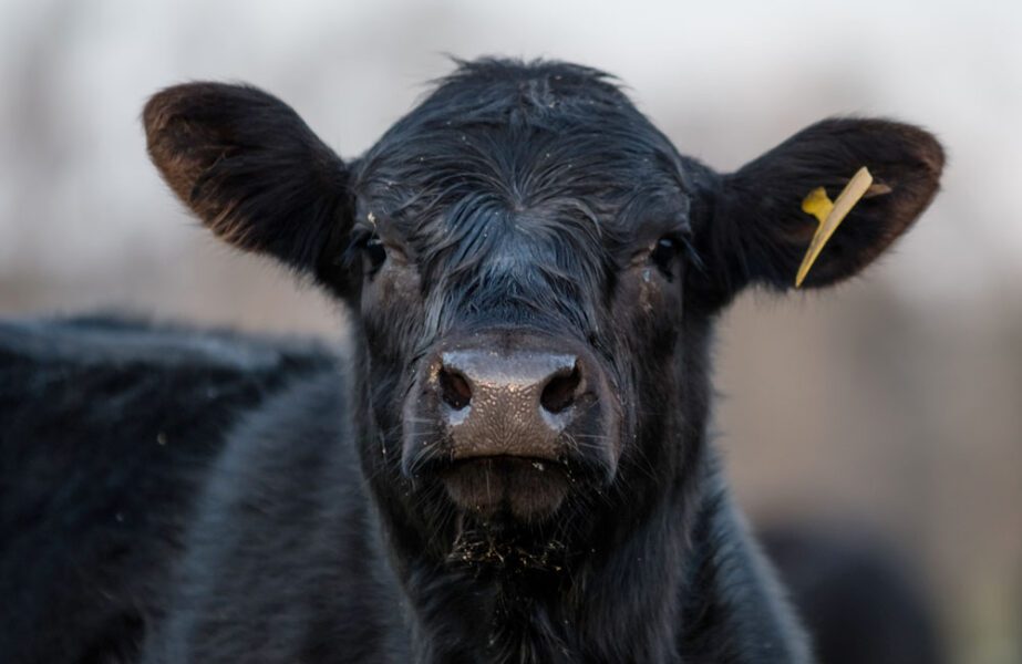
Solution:
<svg viewBox="0 0 1022 664">
<path fill-rule="evenodd" d="M 441 480 L 451 500 L 476 518 L 535 523 L 561 506 L 570 474 L 547 458 L 500 455 L 454 461 Z"/>
</svg>

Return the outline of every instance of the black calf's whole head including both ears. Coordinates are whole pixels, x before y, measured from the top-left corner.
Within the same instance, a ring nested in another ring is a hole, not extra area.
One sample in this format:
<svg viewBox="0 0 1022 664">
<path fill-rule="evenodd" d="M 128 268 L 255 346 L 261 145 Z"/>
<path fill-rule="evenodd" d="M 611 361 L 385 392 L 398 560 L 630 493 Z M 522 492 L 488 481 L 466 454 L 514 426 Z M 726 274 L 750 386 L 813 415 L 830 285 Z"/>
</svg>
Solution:
<svg viewBox="0 0 1022 664">
<path fill-rule="evenodd" d="M 861 166 L 881 185 L 806 282 L 825 286 L 908 227 L 942 167 L 920 129 L 836 120 L 721 176 L 606 75 L 558 63 L 465 64 L 350 165 L 248 87 L 172 87 L 145 124 L 214 232 L 359 312 L 383 511 L 410 547 L 473 561 L 536 562 L 609 512 L 641 518 L 701 439 L 683 432 L 702 428 L 703 347 L 683 331 L 792 282 L 809 190 Z"/>
</svg>

